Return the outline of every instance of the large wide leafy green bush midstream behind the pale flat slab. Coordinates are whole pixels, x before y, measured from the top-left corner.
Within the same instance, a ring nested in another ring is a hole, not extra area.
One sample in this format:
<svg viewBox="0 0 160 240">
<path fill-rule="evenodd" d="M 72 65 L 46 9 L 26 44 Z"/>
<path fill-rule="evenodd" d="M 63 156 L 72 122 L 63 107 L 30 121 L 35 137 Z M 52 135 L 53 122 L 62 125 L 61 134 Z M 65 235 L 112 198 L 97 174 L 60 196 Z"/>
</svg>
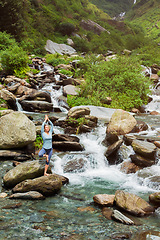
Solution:
<svg viewBox="0 0 160 240">
<path fill-rule="evenodd" d="M 86 81 L 78 97 L 68 98 L 70 106 L 76 103 L 131 110 L 147 103 L 150 82 L 142 75 L 137 58 L 123 56 L 99 62 L 92 56 L 86 65 Z M 103 103 L 106 97 L 112 98 L 111 105 Z"/>
</svg>

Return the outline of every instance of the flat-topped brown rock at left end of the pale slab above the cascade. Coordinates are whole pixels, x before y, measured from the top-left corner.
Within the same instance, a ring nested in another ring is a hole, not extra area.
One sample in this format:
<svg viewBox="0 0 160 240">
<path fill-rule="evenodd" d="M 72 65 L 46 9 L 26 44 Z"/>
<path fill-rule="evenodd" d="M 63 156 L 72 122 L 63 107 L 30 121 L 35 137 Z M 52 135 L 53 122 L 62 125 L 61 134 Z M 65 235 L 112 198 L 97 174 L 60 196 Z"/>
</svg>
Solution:
<svg viewBox="0 0 160 240">
<path fill-rule="evenodd" d="M 90 114 L 90 109 L 88 107 L 74 107 L 68 111 L 68 118 L 80 118 L 85 115 Z"/>
</svg>

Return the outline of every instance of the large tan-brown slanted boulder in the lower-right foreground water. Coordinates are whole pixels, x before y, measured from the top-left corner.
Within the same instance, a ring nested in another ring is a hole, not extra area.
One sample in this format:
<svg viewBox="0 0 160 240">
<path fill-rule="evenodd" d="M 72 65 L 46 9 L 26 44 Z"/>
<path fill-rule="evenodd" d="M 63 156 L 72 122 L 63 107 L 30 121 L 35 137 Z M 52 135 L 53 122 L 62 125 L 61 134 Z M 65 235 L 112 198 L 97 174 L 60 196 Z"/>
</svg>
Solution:
<svg viewBox="0 0 160 240">
<path fill-rule="evenodd" d="M 149 215 L 155 211 L 154 207 L 145 200 L 133 193 L 117 190 L 115 193 L 115 203 L 121 209 L 136 216 Z"/>
</svg>

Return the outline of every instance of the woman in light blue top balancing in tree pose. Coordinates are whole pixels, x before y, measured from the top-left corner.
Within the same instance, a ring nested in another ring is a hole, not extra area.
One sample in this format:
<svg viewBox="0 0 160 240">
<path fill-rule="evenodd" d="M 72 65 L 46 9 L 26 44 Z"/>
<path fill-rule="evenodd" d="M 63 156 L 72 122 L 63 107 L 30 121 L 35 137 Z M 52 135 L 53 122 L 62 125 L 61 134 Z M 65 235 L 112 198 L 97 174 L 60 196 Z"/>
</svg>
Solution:
<svg viewBox="0 0 160 240">
<path fill-rule="evenodd" d="M 47 122 L 51 125 L 51 129 L 49 130 L 49 126 L 47 125 Z M 49 162 L 52 156 L 53 148 L 52 148 L 52 132 L 53 132 L 53 124 L 49 120 L 48 116 L 45 115 L 45 120 L 42 123 L 41 127 L 41 135 L 43 138 L 43 147 L 39 152 L 39 157 L 43 157 L 44 155 L 46 156 L 46 165 L 44 169 L 44 175 L 47 174 Z"/>
</svg>

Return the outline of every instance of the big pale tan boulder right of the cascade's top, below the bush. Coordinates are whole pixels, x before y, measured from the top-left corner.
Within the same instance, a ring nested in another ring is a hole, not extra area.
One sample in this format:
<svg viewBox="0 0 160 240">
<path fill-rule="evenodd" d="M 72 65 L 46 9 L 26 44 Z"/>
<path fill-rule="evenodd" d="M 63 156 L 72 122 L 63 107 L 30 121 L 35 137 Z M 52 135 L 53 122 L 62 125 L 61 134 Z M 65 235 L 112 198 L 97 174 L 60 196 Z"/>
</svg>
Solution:
<svg viewBox="0 0 160 240">
<path fill-rule="evenodd" d="M 129 112 L 117 109 L 110 119 L 107 133 L 117 132 L 118 135 L 125 135 L 131 132 L 136 124 L 136 119 Z"/>
</svg>

